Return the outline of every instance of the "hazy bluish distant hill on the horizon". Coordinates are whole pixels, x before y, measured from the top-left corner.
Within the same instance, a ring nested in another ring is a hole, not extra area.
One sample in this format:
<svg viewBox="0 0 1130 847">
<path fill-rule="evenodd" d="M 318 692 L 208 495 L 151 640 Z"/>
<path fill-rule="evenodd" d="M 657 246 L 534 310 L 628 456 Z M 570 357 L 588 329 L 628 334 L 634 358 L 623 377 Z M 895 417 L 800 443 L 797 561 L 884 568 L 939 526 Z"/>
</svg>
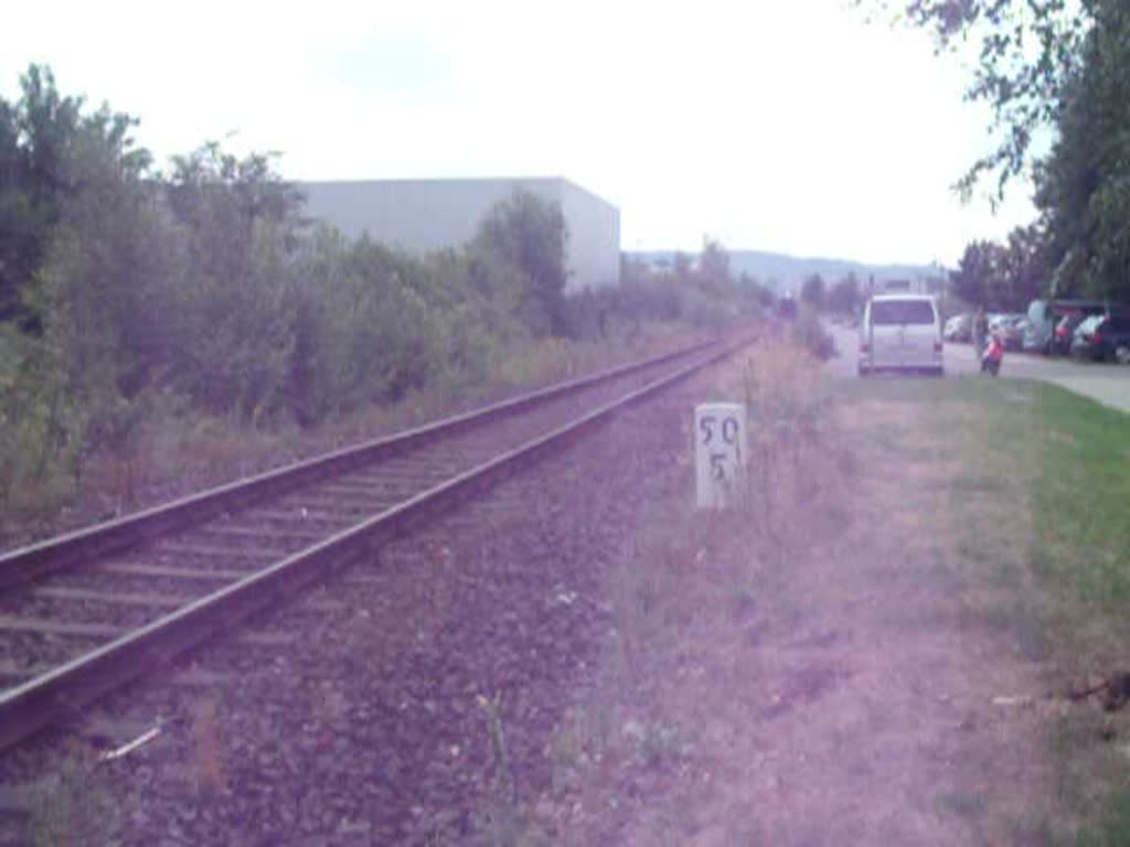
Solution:
<svg viewBox="0 0 1130 847">
<path fill-rule="evenodd" d="M 938 268 L 929 264 L 864 264 L 847 259 L 798 259 L 784 253 L 766 253 L 759 250 L 731 250 L 730 270 L 737 277 L 748 273 L 779 294 L 799 291 L 801 283 L 814 273 L 819 273 L 827 285 L 854 273 L 861 282 L 872 276 L 876 282 L 892 279 L 931 279 L 938 277 Z M 632 259 L 640 259 L 652 267 L 662 267 L 675 257 L 675 251 L 627 251 Z M 687 253 L 697 260 L 696 253 Z"/>
</svg>

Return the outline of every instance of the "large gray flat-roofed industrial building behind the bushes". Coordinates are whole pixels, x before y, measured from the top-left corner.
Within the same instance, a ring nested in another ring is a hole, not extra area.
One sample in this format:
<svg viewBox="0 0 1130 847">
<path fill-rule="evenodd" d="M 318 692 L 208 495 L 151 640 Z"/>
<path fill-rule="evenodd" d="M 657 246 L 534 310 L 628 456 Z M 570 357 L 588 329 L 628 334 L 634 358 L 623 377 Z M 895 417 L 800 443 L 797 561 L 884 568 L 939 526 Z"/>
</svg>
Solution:
<svg viewBox="0 0 1130 847">
<path fill-rule="evenodd" d="M 495 203 L 514 191 L 529 191 L 560 204 L 568 227 L 567 290 L 619 282 L 619 210 L 567 180 L 366 180 L 306 182 L 298 187 L 311 218 L 351 238 L 368 233 L 410 253 L 466 244 Z"/>
</svg>

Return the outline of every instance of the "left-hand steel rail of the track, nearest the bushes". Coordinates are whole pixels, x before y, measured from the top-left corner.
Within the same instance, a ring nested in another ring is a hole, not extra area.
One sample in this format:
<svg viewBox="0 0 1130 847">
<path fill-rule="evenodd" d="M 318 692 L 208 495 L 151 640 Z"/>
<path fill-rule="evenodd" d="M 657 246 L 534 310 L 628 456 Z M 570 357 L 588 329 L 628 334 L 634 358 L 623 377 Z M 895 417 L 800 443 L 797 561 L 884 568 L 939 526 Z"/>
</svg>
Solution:
<svg viewBox="0 0 1130 847">
<path fill-rule="evenodd" d="M 334 473 L 355 470 L 362 464 L 388 459 L 437 438 L 446 438 L 467 431 L 544 401 L 576 393 L 609 379 L 701 352 L 716 343 L 715 341 L 701 342 L 662 356 L 557 383 L 481 409 L 473 409 L 412 429 L 344 447 L 332 453 L 199 491 L 172 503 L 17 548 L 0 555 L 0 591 L 31 582 L 52 570 L 80 565 L 107 553 L 119 552 L 172 530 L 207 521 L 225 512 L 245 508 L 267 497 L 293 491 Z"/>
</svg>

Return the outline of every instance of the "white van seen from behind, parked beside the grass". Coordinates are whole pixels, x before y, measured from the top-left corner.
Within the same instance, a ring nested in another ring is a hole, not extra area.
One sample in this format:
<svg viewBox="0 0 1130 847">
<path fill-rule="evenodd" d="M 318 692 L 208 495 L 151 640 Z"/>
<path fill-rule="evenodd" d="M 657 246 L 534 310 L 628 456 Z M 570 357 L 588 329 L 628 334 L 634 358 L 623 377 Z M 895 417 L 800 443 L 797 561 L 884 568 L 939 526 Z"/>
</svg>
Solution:
<svg viewBox="0 0 1130 847">
<path fill-rule="evenodd" d="M 859 325 L 859 375 L 876 370 L 922 370 L 941 376 L 941 321 L 933 297 L 877 295 Z"/>
</svg>

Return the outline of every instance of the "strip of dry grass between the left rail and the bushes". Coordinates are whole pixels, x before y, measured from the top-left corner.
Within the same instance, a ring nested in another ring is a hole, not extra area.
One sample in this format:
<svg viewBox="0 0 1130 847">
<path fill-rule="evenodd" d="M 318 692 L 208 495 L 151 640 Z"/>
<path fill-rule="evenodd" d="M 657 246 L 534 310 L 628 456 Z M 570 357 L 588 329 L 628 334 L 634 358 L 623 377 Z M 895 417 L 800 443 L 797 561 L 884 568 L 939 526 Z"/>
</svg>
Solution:
<svg viewBox="0 0 1130 847">
<path fill-rule="evenodd" d="M 687 324 L 652 322 L 603 340 L 532 340 L 502 349 L 486 379 L 446 379 L 305 430 L 241 425 L 183 403 L 158 409 L 128 445 L 89 456 L 80 479 L 44 475 L 14 488 L 0 513 L 0 549 L 675 349 L 702 334 Z"/>
</svg>

